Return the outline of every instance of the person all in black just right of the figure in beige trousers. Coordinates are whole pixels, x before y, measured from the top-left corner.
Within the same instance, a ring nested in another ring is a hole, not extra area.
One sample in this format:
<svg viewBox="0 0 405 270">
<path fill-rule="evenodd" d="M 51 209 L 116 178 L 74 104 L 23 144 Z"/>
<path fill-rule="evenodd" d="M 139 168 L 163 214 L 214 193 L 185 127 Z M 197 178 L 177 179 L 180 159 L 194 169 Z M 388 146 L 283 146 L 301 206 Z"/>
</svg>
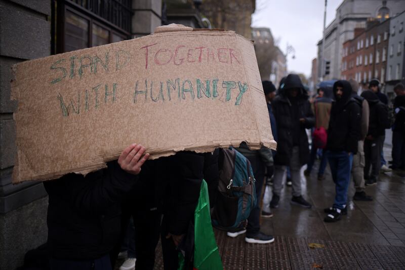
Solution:
<svg viewBox="0 0 405 270">
<path fill-rule="evenodd" d="M 370 107 L 369 130 L 364 142 L 366 157 L 364 174 L 366 185 L 375 185 L 380 173 L 381 145 L 384 143 L 385 128 L 388 125 L 388 110 L 372 91 L 365 91 L 361 96 L 367 100 Z"/>
</svg>

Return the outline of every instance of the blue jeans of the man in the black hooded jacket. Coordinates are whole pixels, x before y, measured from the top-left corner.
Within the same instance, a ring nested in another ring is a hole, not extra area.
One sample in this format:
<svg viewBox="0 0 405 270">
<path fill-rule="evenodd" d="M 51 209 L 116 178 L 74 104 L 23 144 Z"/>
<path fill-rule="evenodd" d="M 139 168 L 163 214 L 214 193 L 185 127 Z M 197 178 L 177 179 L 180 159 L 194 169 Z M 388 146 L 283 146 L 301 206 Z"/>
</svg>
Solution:
<svg viewBox="0 0 405 270">
<path fill-rule="evenodd" d="M 327 155 L 332 179 L 335 182 L 336 195 L 333 207 L 344 209 L 347 205 L 353 153 L 349 155 L 346 151 L 327 151 Z"/>
</svg>

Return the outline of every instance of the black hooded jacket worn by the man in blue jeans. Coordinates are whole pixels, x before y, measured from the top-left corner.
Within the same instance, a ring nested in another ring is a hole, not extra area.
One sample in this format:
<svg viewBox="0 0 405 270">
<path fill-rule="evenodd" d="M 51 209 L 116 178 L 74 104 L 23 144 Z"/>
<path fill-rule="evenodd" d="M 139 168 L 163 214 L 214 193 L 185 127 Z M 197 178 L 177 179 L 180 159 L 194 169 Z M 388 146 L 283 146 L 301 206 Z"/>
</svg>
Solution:
<svg viewBox="0 0 405 270">
<path fill-rule="evenodd" d="M 358 101 L 351 98 L 351 86 L 347 81 L 337 81 L 333 85 L 336 99 L 337 87 L 343 87 L 341 99 L 332 103 L 329 121 L 327 149 L 357 153 L 360 139 L 361 110 Z"/>
</svg>

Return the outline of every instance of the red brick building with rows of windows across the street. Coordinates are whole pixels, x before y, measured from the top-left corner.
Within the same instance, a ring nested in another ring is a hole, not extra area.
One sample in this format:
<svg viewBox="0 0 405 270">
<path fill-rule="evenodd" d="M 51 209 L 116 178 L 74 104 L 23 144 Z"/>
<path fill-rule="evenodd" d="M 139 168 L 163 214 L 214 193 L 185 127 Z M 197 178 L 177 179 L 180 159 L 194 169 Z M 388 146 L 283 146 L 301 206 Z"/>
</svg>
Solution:
<svg viewBox="0 0 405 270">
<path fill-rule="evenodd" d="M 369 20 L 367 28 L 355 28 L 354 38 L 343 43 L 342 79 L 368 83 L 376 78 L 385 82 L 389 23 Z"/>
</svg>

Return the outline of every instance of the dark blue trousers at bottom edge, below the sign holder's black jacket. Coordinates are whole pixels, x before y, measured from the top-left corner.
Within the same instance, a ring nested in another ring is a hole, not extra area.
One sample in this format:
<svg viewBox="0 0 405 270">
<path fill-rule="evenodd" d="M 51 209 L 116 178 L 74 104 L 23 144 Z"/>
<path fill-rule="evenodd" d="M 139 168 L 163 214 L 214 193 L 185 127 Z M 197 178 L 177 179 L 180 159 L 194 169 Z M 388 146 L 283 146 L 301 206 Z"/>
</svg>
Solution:
<svg viewBox="0 0 405 270">
<path fill-rule="evenodd" d="M 49 260 L 51 270 L 111 270 L 109 255 L 94 260 Z"/>
</svg>

